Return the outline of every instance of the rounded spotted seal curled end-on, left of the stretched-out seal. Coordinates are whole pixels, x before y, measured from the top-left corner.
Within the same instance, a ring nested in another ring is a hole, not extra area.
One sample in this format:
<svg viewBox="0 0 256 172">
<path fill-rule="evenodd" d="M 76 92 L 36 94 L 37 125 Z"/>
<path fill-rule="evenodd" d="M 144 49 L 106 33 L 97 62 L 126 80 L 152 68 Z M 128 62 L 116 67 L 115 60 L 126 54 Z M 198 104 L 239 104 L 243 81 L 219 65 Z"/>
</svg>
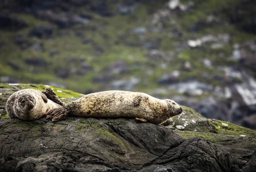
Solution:
<svg viewBox="0 0 256 172">
<path fill-rule="evenodd" d="M 63 105 L 61 100 L 52 89 L 46 88 L 43 92 L 36 89 L 22 89 L 8 98 L 6 112 L 10 118 L 37 120 L 47 115 L 49 110 L 61 105 Z"/>
</svg>

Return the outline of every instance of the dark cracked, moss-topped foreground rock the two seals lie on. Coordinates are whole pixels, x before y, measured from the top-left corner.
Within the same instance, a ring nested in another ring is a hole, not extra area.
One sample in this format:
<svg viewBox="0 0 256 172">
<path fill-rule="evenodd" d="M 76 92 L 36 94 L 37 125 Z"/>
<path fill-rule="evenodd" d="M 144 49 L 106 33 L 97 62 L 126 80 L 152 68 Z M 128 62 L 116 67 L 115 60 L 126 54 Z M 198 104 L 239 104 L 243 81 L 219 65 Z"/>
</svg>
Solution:
<svg viewBox="0 0 256 172">
<path fill-rule="evenodd" d="M 0 85 L 0 109 L 19 89 Z M 81 97 L 51 87 L 68 103 Z M 76 97 L 76 98 L 74 98 Z M 210 120 L 183 106 L 175 130 L 134 119 L 10 119 L 1 109 L 1 172 L 254 172 L 256 131 Z"/>
</svg>

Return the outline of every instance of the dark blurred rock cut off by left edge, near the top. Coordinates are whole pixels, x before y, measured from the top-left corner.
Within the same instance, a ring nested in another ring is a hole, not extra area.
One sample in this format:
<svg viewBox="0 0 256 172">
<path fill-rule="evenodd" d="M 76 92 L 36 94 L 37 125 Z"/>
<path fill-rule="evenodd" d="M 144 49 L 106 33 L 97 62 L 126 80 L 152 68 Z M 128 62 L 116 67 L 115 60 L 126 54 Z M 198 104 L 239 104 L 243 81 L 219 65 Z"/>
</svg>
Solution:
<svg viewBox="0 0 256 172">
<path fill-rule="evenodd" d="M 26 28 L 28 24 L 18 17 L 10 14 L 0 14 L 0 29 L 17 31 Z"/>
</svg>

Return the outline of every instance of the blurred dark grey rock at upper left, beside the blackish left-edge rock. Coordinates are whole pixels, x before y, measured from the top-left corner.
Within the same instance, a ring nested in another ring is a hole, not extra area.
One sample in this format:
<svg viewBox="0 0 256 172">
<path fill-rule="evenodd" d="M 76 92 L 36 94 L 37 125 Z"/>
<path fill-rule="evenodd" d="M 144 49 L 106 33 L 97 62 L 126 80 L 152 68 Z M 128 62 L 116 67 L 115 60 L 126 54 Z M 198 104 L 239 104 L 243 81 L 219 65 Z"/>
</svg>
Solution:
<svg viewBox="0 0 256 172">
<path fill-rule="evenodd" d="M 52 26 L 38 26 L 29 32 L 29 36 L 38 38 L 50 38 L 52 36 Z"/>
</svg>

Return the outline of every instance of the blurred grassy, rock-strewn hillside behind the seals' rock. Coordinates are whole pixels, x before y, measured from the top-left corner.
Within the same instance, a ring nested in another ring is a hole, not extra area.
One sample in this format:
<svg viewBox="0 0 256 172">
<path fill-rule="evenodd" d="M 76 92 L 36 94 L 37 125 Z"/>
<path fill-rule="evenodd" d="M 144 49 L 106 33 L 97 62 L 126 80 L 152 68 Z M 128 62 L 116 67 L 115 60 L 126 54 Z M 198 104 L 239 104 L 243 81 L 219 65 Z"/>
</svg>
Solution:
<svg viewBox="0 0 256 172">
<path fill-rule="evenodd" d="M 1 0 L 0 83 L 174 99 L 256 129 L 255 0 Z"/>
</svg>

